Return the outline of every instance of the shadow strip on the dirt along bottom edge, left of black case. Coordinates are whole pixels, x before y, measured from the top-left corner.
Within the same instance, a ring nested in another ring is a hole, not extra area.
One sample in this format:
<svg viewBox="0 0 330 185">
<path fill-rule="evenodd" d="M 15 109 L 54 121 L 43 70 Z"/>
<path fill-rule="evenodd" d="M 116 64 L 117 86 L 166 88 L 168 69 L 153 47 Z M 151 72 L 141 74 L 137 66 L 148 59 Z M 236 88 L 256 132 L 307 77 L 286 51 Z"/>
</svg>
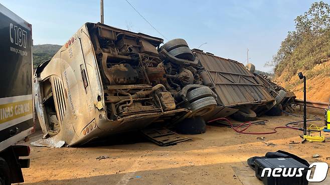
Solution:
<svg viewBox="0 0 330 185">
<path fill-rule="evenodd" d="M 231 165 L 242 165 L 242 163 L 231 163 Z M 241 184 L 231 165 L 222 163 L 186 165 L 24 184 Z"/>
</svg>

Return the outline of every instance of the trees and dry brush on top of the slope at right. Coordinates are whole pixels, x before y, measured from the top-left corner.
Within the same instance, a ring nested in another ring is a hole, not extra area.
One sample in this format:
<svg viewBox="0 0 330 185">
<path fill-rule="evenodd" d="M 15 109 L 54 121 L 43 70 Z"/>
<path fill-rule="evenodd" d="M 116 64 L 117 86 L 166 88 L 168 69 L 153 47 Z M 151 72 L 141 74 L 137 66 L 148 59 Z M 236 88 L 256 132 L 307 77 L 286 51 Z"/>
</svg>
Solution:
<svg viewBox="0 0 330 185">
<path fill-rule="evenodd" d="M 310 70 L 330 59 L 330 5 L 314 2 L 294 21 L 295 30 L 288 32 L 272 61 L 266 63 L 274 66 L 276 76 L 285 72 L 283 77 L 289 78 L 298 69 Z"/>
</svg>

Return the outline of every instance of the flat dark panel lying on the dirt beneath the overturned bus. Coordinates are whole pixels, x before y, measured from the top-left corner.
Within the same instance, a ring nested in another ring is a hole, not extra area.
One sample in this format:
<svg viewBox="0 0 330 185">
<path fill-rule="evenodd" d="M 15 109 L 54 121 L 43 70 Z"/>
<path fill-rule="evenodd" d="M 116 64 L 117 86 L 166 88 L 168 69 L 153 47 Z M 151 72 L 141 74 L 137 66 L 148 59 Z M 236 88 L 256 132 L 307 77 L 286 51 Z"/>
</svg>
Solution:
<svg viewBox="0 0 330 185">
<path fill-rule="evenodd" d="M 158 144 L 159 146 L 173 145 L 178 142 L 183 142 L 190 140 L 191 138 L 179 135 L 167 128 L 151 128 L 141 130 L 142 134 L 151 140 L 152 142 Z"/>
</svg>

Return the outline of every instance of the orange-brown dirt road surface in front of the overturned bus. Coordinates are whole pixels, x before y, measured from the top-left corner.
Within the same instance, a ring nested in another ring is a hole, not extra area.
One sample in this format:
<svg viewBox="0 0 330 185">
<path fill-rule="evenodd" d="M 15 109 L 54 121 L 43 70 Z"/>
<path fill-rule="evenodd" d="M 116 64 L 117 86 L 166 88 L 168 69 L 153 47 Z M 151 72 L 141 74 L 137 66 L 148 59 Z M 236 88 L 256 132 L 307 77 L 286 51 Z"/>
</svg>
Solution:
<svg viewBox="0 0 330 185">
<path fill-rule="evenodd" d="M 308 118 L 322 118 L 322 110 L 308 110 Z M 252 125 L 248 131 L 271 131 L 272 127 L 302 117 L 282 115 L 260 119 L 269 121 L 265 125 Z M 322 125 L 323 121 L 313 123 Z M 300 143 L 301 133 L 280 128 L 275 134 L 248 135 L 219 124 L 208 125 L 204 134 L 189 135 L 190 141 L 164 147 L 134 134 L 85 147 L 32 146 L 31 166 L 23 169 L 23 173 L 25 184 L 262 184 L 247 167 L 247 158 L 281 149 L 309 162 L 330 162 L 326 159 L 330 157 L 330 142 Z M 330 133 L 323 134 L 330 140 Z M 27 143 L 41 136 L 39 131 Z M 299 143 L 290 144 L 292 141 Z M 320 156 L 313 158 L 316 153 Z M 96 159 L 99 156 L 106 158 Z"/>
</svg>

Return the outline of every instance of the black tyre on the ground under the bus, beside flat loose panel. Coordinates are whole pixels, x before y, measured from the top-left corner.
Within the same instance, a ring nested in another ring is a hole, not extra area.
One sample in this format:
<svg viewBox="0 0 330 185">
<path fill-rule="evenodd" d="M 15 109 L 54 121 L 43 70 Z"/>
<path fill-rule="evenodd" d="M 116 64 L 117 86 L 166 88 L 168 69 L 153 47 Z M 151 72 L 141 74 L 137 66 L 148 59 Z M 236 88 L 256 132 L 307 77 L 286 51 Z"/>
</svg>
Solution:
<svg viewBox="0 0 330 185">
<path fill-rule="evenodd" d="M 205 120 L 201 116 L 195 116 L 179 122 L 176 131 L 181 134 L 201 134 L 205 133 L 205 128 Z"/>
</svg>

